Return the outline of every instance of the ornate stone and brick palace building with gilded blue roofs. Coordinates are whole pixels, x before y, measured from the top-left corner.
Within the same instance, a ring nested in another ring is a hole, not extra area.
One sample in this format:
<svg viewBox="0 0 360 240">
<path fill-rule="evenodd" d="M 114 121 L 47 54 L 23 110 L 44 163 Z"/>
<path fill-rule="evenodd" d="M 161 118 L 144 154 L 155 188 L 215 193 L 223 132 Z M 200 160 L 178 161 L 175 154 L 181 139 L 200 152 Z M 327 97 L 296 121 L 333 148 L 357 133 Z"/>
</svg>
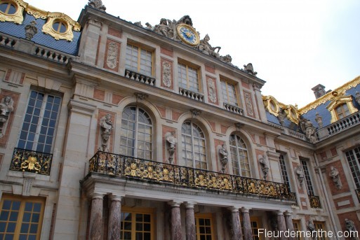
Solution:
<svg viewBox="0 0 360 240">
<path fill-rule="evenodd" d="M 188 15 L 105 10 L 0 3 L 0 239 L 360 230 L 360 77 L 298 109 Z"/>
</svg>

